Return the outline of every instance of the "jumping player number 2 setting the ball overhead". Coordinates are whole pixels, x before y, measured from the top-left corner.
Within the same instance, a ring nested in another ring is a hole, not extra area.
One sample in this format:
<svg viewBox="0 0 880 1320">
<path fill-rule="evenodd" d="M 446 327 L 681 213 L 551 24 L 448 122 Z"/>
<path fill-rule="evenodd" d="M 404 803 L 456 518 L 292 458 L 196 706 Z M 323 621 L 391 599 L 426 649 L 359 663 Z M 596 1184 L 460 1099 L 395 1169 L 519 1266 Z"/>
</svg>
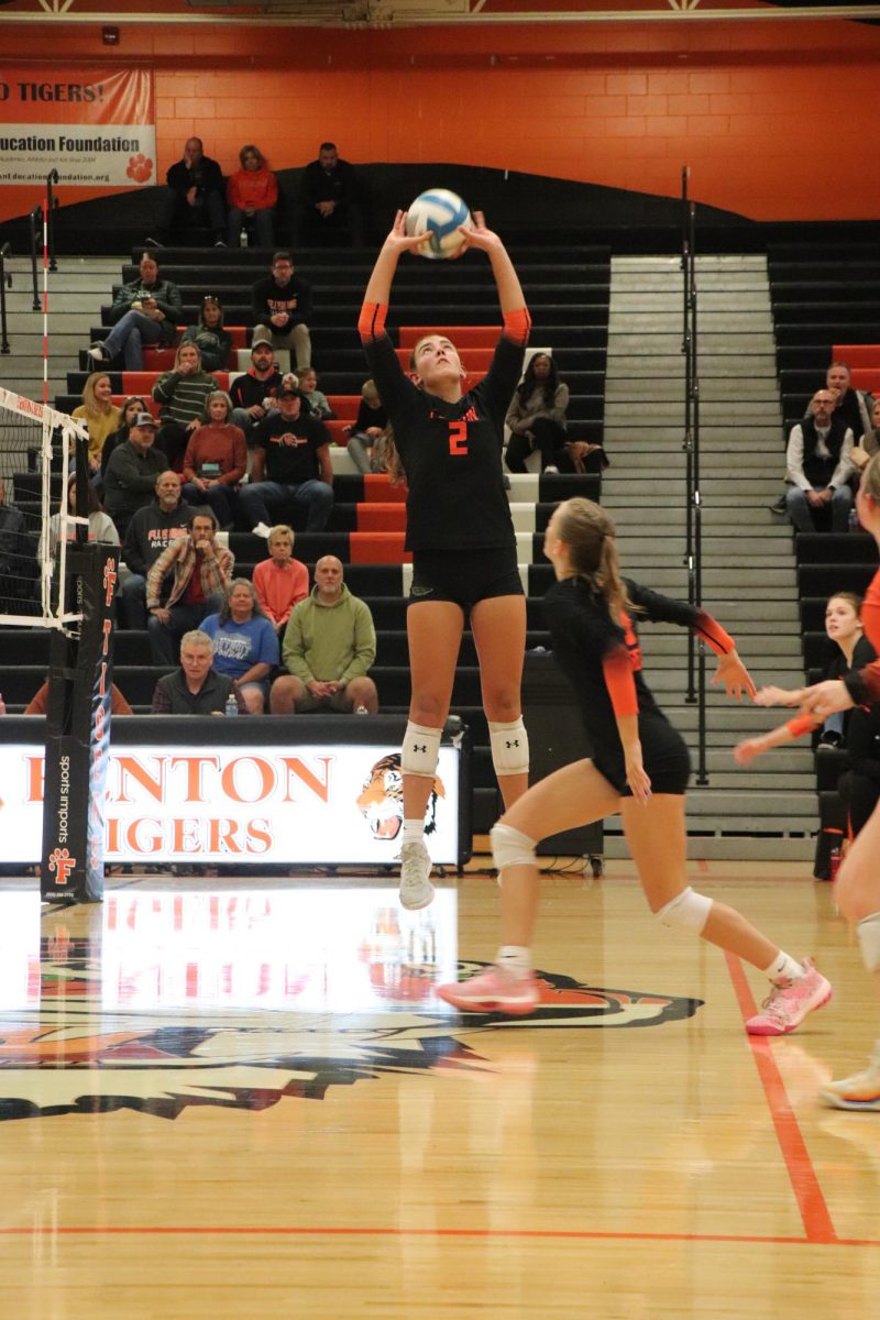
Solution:
<svg viewBox="0 0 880 1320">
<path fill-rule="evenodd" d="M 409 487 L 406 548 L 413 552 L 413 582 L 406 634 L 412 701 L 401 752 L 400 900 L 414 909 L 426 907 L 434 896 L 424 838 L 425 808 L 434 787 L 467 615 L 479 657 L 492 764 L 505 807 L 513 805 L 529 781 L 520 706 L 525 597 L 504 491 L 501 444 L 504 417 L 522 374 L 530 322 L 511 257 L 478 211 L 474 224 L 460 231 L 464 248 L 487 253 L 497 285 L 504 333 L 492 366 L 479 385 L 464 392 L 466 371 L 455 346 L 442 334 L 429 334 L 413 348 L 406 375 L 384 329 L 397 261 L 426 239 L 408 236 L 405 222 L 405 213 L 398 211 L 367 285 L 358 329 L 393 424 Z"/>
</svg>

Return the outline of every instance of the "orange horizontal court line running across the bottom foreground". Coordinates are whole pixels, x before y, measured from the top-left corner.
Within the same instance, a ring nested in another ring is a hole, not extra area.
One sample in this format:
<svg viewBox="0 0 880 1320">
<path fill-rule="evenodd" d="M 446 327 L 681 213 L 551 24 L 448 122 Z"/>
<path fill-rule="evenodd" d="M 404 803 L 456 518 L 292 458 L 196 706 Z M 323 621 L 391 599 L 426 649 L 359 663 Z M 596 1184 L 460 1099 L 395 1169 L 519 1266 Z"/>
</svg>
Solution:
<svg viewBox="0 0 880 1320">
<path fill-rule="evenodd" d="M 22 1225 L 21 1228 L 0 1228 L 1 1237 L 136 1237 L 139 1234 L 164 1234 L 166 1237 L 426 1237 L 426 1238 L 537 1238 L 553 1241 L 600 1241 L 600 1242 L 752 1242 L 767 1246 L 880 1246 L 880 1238 L 823 1238 L 806 1237 L 761 1237 L 749 1233 L 611 1233 L 603 1229 L 398 1229 L 398 1228 L 348 1228 L 346 1225 L 305 1226 L 289 1225 L 162 1225 L 144 1226 L 120 1224 L 95 1224 L 82 1226 L 51 1228 L 49 1225 Z"/>
</svg>

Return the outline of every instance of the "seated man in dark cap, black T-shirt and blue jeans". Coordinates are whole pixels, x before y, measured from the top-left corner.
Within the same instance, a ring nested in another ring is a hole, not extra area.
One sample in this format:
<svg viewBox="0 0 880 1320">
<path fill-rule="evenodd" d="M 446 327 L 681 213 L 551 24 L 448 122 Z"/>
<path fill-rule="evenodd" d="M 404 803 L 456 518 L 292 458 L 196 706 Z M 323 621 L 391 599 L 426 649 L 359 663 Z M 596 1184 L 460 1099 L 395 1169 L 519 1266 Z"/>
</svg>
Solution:
<svg viewBox="0 0 880 1320">
<path fill-rule="evenodd" d="M 322 532 L 332 510 L 330 434 L 322 421 L 302 412 L 301 389 L 284 385 L 278 412 L 269 413 L 256 436 L 251 483 L 239 494 L 241 517 L 257 536 L 268 536 L 274 513 L 292 521 L 306 512 L 306 531 Z"/>
</svg>

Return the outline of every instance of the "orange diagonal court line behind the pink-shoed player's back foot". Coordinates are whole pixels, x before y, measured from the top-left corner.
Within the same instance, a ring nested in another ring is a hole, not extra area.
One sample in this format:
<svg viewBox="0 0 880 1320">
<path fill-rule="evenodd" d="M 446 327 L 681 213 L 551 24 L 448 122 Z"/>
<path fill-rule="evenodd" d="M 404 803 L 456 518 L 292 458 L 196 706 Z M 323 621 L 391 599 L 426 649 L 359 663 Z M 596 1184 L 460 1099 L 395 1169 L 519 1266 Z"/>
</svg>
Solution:
<svg viewBox="0 0 880 1320">
<path fill-rule="evenodd" d="M 749 990 L 743 964 L 732 953 L 724 953 L 727 970 L 730 972 L 734 990 L 739 1001 L 743 1022 L 757 1012 L 757 1005 Z M 819 1180 L 813 1168 L 803 1134 L 789 1105 L 785 1082 L 776 1065 L 776 1059 L 770 1049 L 768 1036 L 749 1036 L 755 1065 L 757 1068 L 767 1104 L 770 1110 L 776 1138 L 780 1143 L 782 1159 L 792 1180 L 792 1191 L 801 1212 L 801 1221 L 807 1242 L 838 1242 L 838 1236 L 831 1222 L 831 1216 L 819 1185 Z"/>
</svg>

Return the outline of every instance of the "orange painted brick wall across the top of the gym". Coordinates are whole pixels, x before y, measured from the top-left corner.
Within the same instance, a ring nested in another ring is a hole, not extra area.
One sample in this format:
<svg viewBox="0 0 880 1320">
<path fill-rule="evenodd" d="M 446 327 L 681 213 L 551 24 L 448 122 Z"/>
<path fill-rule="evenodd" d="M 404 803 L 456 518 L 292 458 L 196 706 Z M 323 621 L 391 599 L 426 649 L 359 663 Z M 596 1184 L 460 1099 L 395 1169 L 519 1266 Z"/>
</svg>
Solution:
<svg viewBox="0 0 880 1320">
<path fill-rule="evenodd" d="M 689 164 L 693 197 L 753 219 L 880 214 L 877 28 L 123 26 L 108 49 L 99 25 L 51 26 L 65 73 L 77 61 L 154 70 L 160 177 L 194 132 L 224 170 L 245 141 L 281 169 L 331 137 L 355 162 L 462 162 L 662 195 L 678 193 Z M 22 67 L 47 49 L 45 24 L 0 30 L 4 57 Z M 0 191 L 0 218 L 34 201 Z"/>
</svg>

